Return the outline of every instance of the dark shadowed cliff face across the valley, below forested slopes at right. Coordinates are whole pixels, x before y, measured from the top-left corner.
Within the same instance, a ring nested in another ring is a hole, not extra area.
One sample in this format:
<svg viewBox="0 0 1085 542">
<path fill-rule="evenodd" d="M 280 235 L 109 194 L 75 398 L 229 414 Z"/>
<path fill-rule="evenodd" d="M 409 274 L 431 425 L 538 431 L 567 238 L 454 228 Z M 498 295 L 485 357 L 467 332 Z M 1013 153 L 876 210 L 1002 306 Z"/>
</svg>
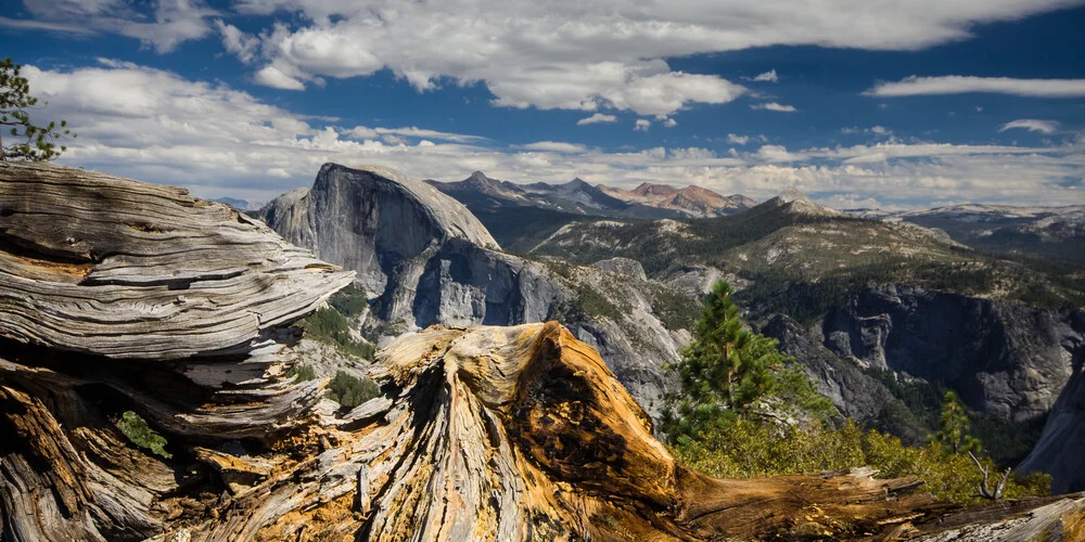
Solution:
<svg viewBox="0 0 1085 542">
<path fill-rule="evenodd" d="M 1020 422 L 1046 414 L 1070 379 L 1082 319 L 1081 310 L 883 286 L 827 314 L 822 333 L 838 356 L 943 380 L 969 406 Z"/>
</svg>

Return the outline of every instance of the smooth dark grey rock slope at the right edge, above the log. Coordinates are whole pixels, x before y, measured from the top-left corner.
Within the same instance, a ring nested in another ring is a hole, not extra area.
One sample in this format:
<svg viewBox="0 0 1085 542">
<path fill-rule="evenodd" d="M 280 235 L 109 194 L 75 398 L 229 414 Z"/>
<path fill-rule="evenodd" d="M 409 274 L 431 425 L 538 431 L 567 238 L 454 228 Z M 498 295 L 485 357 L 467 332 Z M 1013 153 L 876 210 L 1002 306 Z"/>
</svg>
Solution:
<svg viewBox="0 0 1085 542">
<path fill-rule="evenodd" d="M 1067 339 L 1074 351 L 1073 376 L 1051 408 L 1039 442 L 1020 467 L 1025 473 L 1050 474 L 1051 491 L 1057 493 L 1085 490 L 1085 456 L 1081 453 L 1085 450 L 1085 311 L 1075 312 L 1071 324 L 1080 334 Z"/>
</svg>

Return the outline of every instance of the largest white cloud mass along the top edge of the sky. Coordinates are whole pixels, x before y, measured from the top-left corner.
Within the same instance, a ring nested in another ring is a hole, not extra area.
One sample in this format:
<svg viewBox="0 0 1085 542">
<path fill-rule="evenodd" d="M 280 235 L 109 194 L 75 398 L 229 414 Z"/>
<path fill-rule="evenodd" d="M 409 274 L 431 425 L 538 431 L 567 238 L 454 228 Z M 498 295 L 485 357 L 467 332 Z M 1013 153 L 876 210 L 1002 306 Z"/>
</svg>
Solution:
<svg viewBox="0 0 1085 542">
<path fill-rule="evenodd" d="M 876 0 L 858 9 L 855 0 L 736 0 L 720 9 L 699 0 L 238 0 L 234 9 L 271 21 L 257 33 L 260 67 L 297 81 L 387 68 L 419 91 L 482 83 L 499 106 L 614 108 L 662 120 L 746 92 L 715 75 L 674 72 L 665 59 L 774 44 L 922 49 L 1065 1 Z"/>
</svg>

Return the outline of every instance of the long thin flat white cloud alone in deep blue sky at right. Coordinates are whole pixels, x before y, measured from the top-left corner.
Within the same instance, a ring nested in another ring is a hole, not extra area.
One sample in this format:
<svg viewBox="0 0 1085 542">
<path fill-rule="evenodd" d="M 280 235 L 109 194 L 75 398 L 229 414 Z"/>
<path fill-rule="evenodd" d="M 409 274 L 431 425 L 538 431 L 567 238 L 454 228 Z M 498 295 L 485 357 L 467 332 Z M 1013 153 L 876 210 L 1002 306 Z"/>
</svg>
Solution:
<svg viewBox="0 0 1085 542">
<path fill-rule="evenodd" d="M 1035 98 L 1085 96 L 1085 79 L 1013 79 L 1010 77 L 905 77 L 897 82 L 880 82 L 864 92 L 872 96 L 914 96 L 990 92 Z"/>
</svg>

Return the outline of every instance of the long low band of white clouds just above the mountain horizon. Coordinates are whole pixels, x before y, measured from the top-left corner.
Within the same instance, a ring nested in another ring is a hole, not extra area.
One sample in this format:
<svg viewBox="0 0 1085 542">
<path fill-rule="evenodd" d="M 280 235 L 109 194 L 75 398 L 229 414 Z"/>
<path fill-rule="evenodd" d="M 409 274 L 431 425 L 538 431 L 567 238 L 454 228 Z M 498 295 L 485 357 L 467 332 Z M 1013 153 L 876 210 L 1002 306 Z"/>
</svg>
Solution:
<svg viewBox="0 0 1085 542">
<path fill-rule="evenodd" d="M 182 185 L 202 197 L 268 199 L 311 184 L 321 164 L 336 162 L 397 167 L 416 178 L 445 180 L 475 170 L 515 182 L 579 177 L 630 189 L 668 179 L 757 199 L 796 185 L 822 201 L 877 198 L 882 206 L 935 199 L 1059 204 L 1081 199 L 1065 179 L 1081 178 L 1085 169 L 1081 143 L 762 145 L 723 155 L 699 147 L 615 152 L 561 141 L 500 146 L 476 136 L 421 127 L 342 127 L 335 119 L 294 113 L 220 83 L 130 63 L 74 70 L 26 66 L 24 74 L 50 102 L 40 120 L 66 118 L 79 132 L 68 142 L 63 163 Z M 833 194 L 846 196 L 832 199 Z"/>
</svg>

